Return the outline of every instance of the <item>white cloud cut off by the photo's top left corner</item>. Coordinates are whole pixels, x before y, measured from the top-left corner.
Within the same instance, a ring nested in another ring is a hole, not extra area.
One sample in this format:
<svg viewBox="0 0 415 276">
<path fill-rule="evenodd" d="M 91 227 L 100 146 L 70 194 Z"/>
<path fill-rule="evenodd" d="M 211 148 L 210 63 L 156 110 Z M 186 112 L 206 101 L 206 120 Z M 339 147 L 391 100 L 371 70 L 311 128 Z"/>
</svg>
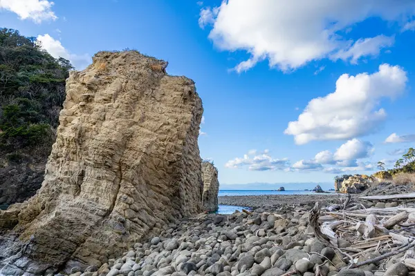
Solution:
<svg viewBox="0 0 415 276">
<path fill-rule="evenodd" d="M 35 23 L 44 20 L 56 20 L 55 12 L 51 10 L 52 1 L 46 0 L 0 0 L 0 9 L 15 12 L 20 19 L 32 19 Z"/>
</svg>

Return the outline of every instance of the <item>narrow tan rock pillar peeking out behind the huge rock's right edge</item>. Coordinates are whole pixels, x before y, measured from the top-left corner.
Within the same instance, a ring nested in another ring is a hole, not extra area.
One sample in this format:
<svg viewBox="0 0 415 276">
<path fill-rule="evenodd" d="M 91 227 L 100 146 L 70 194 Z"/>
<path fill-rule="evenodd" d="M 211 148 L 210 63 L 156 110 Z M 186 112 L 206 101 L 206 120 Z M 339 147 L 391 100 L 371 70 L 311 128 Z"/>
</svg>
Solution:
<svg viewBox="0 0 415 276">
<path fill-rule="evenodd" d="M 203 209 L 208 212 L 218 210 L 219 181 L 218 170 L 210 162 L 202 163 Z"/>
</svg>

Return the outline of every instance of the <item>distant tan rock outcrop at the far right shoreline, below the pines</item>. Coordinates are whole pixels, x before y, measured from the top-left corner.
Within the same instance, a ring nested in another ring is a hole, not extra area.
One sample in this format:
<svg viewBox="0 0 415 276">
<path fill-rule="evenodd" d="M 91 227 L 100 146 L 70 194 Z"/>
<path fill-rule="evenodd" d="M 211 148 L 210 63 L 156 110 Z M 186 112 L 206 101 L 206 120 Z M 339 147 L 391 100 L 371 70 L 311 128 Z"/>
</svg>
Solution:
<svg viewBox="0 0 415 276">
<path fill-rule="evenodd" d="M 376 179 L 367 175 L 346 175 L 335 180 L 335 190 L 338 193 L 358 194 L 370 188 Z"/>
</svg>

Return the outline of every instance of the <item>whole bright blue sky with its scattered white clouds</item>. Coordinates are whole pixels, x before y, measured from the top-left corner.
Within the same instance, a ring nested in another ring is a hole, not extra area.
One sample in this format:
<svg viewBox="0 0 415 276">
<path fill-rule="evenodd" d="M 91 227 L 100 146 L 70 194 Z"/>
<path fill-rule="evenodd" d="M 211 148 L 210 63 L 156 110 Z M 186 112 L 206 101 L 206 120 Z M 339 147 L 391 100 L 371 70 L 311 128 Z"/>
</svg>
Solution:
<svg viewBox="0 0 415 276">
<path fill-rule="evenodd" d="M 414 20 L 395 0 L 0 1 L 0 26 L 78 70 L 131 48 L 194 79 L 201 156 L 223 184 L 392 167 L 415 144 Z"/>
</svg>

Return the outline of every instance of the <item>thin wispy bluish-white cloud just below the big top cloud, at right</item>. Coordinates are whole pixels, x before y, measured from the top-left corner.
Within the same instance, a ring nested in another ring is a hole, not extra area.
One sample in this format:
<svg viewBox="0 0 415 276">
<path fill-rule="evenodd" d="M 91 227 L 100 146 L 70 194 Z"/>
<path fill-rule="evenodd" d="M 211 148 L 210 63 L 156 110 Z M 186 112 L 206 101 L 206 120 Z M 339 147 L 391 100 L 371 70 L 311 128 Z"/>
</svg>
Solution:
<svg viewBox="0 0 415 276">
<path fill-rule="evenodd" d="M 350 62 L 353 64 L 358 63 L 360 57 L 366 56 L 377 56 L 380 53 L 381 48 L 391 47 L 394 45 L 394 37 L 385 37 L 380 34 L 377 37 L 371 37 L 367 39 L 358 39 L 353 46 L 349 49 L 339 50 L 331 58 L 332 59 L 351 59 Z"/>
</svg>

